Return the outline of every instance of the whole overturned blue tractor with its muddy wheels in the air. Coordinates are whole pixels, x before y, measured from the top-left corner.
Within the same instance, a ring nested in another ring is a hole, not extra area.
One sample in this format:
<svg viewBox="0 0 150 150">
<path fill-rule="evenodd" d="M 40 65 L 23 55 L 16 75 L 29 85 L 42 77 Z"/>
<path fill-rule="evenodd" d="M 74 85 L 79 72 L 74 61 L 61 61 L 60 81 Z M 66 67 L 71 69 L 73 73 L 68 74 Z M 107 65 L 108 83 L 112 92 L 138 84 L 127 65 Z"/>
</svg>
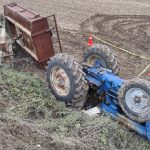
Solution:
<svg viewBox="0 0 150 150">
<path fill-rule="evenodd" d="M 76 108 L 97 105 L 99 111 L 150 140 L 150 83 L 138 78 L 123 80 L 118 73 L 117 56 L 105 45 L 89 48 L 82 65 L 61 53 L 46 68 L 49 88 L 58 100 Z"/>
</svg>

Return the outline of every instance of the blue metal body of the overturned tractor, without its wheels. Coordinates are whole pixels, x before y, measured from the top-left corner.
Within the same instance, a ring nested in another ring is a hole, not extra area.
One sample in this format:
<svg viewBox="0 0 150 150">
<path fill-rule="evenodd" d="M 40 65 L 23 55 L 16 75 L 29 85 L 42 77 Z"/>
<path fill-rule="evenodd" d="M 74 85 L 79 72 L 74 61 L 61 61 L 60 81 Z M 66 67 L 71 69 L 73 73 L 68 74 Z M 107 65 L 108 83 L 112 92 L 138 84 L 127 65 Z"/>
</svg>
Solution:
<svg viewBox="0 0 150 150">
<path fill-rule="evenodd" d="M 120 114 L 122 111 L 118 104 L 117 92 L 124 84 L 124 80 L 114 75 L 112 71 L 100 67 L 98 63 L 95 67 L 86 68 L 85 72 L 87 74 L 86 80 L 97 86 L 99 95 L 105 93 L 105 101 L 99 105 L 99 109 L 109 113 L 118 121 L 150 140 L 150 121 L 140 124 Z"/>
</svg>

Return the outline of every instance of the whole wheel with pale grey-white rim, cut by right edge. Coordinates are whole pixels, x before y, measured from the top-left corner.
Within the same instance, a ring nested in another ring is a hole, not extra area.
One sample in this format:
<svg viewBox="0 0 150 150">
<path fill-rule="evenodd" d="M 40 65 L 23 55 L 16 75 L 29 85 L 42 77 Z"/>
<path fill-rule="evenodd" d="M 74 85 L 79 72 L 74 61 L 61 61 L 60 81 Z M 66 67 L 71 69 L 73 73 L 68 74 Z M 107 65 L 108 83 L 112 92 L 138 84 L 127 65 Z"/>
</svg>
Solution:
<svg viewBox="0 0 150 150">
<path fill-rule="evenodd" d="M 132 79 L 124 83 L 118 93 L 119 104 L 132 120 L 150 120 L 150 82 Z"/>
</svg>

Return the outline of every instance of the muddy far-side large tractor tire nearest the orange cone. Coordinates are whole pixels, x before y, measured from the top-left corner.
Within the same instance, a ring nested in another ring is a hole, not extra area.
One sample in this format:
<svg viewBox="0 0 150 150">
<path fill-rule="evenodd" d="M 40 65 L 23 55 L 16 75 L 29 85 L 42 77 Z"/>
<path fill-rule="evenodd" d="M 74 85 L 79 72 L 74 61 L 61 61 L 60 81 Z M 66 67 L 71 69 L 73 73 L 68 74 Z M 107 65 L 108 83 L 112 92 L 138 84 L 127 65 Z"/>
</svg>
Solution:
<svg viewBox="0 0 150 150">
<path fill-rule="evenodd" d="M 97 44 L 87 49 L 83 55 L 83 62 L 94 66 L 96 61 L 100 61 L 101 66 L 112 70 L 114 74 L 119 72 L 119 63 L 116 54 L 106 45 Z"/>
</svg>

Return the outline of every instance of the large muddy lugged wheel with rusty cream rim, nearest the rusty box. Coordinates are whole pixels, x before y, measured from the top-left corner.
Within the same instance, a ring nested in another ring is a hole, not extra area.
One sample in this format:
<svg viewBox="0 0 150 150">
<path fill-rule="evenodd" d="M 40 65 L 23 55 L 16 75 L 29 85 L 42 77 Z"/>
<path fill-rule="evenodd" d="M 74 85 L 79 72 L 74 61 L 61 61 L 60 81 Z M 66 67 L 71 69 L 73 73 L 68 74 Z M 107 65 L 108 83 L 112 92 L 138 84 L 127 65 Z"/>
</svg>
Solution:
<svg viewBox="0 0 150 150">
<path fill-rule="evenodd" d="M 86 102 L 88 83 L 82 66 L 67 54 L 56 54 L 48 61 L 47 81 L 56 99 L 72 107 L 82 108 Z"/>
</svg>

